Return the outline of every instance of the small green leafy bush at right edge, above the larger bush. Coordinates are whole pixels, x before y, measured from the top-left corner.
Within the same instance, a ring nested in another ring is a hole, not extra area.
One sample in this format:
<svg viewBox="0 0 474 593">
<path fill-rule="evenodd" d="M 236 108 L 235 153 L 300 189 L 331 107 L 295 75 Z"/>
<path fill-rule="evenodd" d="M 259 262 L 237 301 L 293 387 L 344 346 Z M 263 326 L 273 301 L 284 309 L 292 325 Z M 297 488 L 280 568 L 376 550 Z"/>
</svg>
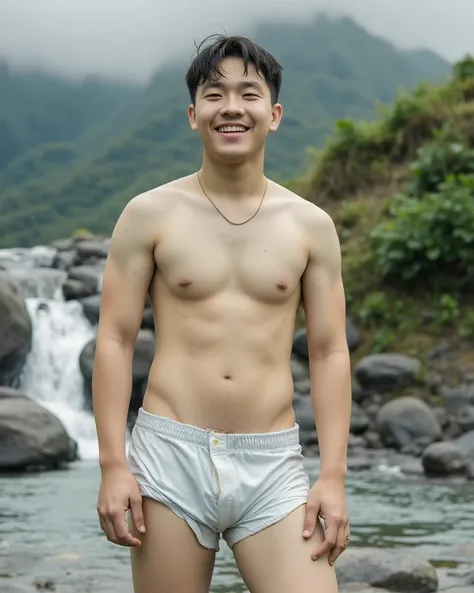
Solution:
<svg viewBox="0 0 474 593">
<path fill-rule="evenodd" d="M 474 150 L 460 142 L 424 146 L 410 169 L 414 176 L 410 193 L 422 196 L 437 191 L 448 175 L 474 173 Z"/>
</svg>

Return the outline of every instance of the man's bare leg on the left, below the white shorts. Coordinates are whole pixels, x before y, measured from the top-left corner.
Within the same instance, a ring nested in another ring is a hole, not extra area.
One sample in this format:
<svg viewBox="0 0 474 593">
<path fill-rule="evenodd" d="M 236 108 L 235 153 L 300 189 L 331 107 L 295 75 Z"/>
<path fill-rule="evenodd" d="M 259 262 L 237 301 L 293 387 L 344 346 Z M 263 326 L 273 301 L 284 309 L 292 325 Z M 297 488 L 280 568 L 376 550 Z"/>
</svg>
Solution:
<svg viewBox="0 0 474 593">
<path fill-rule="evenodd" d="M 191 528 L 170 509 L 143 498 L 147 532 L 131 533 L 142 540 L 131 549 L 135 593 L 209 593 L 214 550 L 202 547 Z"/>
</svg>

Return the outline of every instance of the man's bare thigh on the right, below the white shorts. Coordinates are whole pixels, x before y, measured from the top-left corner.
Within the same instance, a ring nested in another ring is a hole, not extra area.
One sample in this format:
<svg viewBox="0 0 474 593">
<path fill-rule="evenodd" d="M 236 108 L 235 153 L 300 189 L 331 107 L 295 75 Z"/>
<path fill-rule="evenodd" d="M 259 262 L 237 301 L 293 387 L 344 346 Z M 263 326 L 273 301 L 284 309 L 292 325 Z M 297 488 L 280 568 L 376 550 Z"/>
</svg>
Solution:
<svg viewBox="0 0 474 593">
<path fill-rule="evenodd" d="M 240 574 L 250 593 L 337 593 L 334 567 L 327 556 L 311 560 L 324 540 L 318 529 L 309 540 L 303 539 L 305 505 L 282 521 L 240 542 L 234 555 Z"/>
</svg>

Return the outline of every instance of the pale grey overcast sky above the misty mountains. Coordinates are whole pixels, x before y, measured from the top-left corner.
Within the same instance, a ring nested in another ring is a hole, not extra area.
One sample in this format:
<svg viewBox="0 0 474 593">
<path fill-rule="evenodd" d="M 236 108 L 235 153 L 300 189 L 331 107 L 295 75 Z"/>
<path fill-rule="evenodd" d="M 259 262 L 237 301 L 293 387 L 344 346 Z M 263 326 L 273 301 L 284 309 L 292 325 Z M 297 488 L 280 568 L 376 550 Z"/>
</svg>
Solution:
<svg viewBox="0 0 474 593">
<path fill-rule="evenodd" d="M 176 52 L 191 55 L 205 35 L 328 7 L 403 48 L 449 60 L 474 53 L 474 0 L 0 0 L 0 56 L 142 82 Z"/>
</svg>

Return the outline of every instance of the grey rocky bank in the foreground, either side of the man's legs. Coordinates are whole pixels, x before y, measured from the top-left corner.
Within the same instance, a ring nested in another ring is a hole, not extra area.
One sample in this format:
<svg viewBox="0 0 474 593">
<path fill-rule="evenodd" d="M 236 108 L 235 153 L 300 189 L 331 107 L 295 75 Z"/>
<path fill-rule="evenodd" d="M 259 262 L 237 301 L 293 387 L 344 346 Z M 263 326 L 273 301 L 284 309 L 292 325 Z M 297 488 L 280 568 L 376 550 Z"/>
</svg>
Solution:
<svg viewBox="0 0 474 593">
<path fill-rule="evenodd" d="M 111 578 L 108 567 L 87 573 L 86 556 L 59 553 L 40 558 L 28 554 L 28 561 L 0 550 L 2 593 L 60 591 L 61 593 L 128 593 L 128 564 L 120 569 L 122 584 Z M 336 573 L 340 593 L 472 593 L 474 573 L 469 569 L 453 571 L 456 578 L 448 587 L 439 587 L 442 576 L 425 558 L 404 550 L 359 548 L 346 550 L 339 558 Z M 101 572 L 104 575 L 101 578 Z M 36 576 L 33 576 L 36 575 Z M 241 590 L 239 588 L 239 590 Z M 230 589 L 229 589 L 230 593 Z"/>
</svg>

